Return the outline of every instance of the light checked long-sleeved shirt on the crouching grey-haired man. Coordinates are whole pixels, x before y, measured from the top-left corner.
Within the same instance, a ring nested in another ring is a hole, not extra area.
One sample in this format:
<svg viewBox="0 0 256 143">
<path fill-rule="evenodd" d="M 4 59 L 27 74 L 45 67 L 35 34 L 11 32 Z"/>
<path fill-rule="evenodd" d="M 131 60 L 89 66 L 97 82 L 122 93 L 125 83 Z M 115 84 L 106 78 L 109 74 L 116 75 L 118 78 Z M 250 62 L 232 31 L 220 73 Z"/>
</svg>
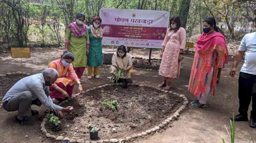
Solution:
<svg viewBox="0 0 256 143">
<path fill-rule="evenodd" d="M 49 87 L 45 85 L 42 73 L 34 74 L 20 79 L 3 97 L 3 102 L 9 101 L 12 97 L 20 92 L 30 91 L 32 100 L 39 99 L 41 103 L 54 110 L 62 110 L 62 107 L 53 103 L 51 97 L 45 94 L 44 90 L 49 91 Z M 48 92 L 49 93 L 49 92 Z"/>
</svg>

